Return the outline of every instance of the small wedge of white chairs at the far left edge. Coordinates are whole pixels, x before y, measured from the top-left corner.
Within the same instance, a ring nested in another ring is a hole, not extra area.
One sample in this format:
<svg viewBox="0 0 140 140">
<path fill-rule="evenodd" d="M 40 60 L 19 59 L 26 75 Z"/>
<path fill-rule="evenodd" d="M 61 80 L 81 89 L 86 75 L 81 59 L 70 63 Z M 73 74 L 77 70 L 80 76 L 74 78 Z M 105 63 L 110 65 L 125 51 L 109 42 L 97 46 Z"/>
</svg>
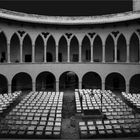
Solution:
<svg viewBox="0 0 140 140">
<path fill-rule="evenodd" d="M 12 104 L 20 95 L 21 91 L 0 94 L 0 114 L 4 113 L 10 104 Z"/>
</svg>

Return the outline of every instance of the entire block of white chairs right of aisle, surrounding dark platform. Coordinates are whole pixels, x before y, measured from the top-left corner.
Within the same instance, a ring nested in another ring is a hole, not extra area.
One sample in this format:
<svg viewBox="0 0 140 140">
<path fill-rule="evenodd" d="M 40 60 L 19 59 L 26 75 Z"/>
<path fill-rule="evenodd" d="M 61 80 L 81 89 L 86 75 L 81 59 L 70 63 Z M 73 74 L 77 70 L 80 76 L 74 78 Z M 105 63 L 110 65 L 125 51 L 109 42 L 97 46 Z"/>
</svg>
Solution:
<svg viewBox="0 0 140 140">
<path fill-rule="evenodd" d="M 110 90 L 76 89 L 75 100 L 77 113 L 100 109 L 106 115 L 106 119 L 79 121 L 80 138 L 140 136 L 140 114 L 133 114 L 132 108 Z"/>
</svg>

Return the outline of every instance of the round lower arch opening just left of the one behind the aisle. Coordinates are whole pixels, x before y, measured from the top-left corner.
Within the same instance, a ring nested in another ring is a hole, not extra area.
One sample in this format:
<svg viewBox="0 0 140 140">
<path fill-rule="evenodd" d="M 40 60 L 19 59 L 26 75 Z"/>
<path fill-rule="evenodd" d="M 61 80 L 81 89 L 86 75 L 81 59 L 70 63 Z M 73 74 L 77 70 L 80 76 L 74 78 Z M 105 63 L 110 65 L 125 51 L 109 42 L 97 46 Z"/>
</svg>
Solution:
<svg viewBox="0 0 140 140">
<path fill-rule="evenodd" d="M 51 72 L 42 72 L 36 78 L 37 91 L 55 91 L 56 79 Z"/>
</svg>

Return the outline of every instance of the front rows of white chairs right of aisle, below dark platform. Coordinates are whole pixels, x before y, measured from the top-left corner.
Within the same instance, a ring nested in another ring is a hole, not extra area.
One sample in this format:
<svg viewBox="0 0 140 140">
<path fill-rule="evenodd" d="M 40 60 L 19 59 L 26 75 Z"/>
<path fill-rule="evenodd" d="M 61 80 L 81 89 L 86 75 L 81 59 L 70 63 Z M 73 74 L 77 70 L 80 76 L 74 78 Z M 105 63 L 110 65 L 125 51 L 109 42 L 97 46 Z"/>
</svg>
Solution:
<svg viewBox="0 0 140 140">
<path fill-rule="evenodd" d="M 80 121 L 80 138 L 140 136 L 140 122 L 127 124 L 125 120 Z"/>
</svg>

